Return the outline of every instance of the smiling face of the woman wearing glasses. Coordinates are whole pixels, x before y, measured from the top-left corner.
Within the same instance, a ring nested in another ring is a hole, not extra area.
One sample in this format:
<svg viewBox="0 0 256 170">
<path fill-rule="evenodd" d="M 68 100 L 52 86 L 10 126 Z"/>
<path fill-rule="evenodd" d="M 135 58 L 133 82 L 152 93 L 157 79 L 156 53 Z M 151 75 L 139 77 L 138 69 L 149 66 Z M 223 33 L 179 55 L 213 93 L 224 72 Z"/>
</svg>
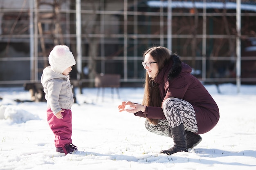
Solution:
<svg viewBox="0 0 256 170">
<path fill-rule="evenodd" d="M 153 59 L 153 57 L 147 53 L 144 57 L 144 62 L 155 62 L 155 60 Z M 151 63 L 150 66 L 145 65 L 144 68 L 146 69 L 147 73 L 148 73 L 148 77 L 154 78 L 157 76 L 158 73 L 158 65 L 157 63 Z"/>
</svg>

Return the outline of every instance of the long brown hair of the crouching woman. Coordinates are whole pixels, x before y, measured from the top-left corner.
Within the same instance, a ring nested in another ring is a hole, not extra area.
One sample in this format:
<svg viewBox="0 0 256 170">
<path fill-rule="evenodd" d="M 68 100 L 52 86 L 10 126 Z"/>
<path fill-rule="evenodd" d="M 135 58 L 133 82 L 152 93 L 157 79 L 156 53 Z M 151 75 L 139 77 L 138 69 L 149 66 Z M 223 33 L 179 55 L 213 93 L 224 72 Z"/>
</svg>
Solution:
<svg viewBox="0 0 256 170">
<path fill-rule="evenodd" d="M 153 59 L 157 62 L 158 72 L 162 70 L 164 65 L 170 60 L 171 51 L 162 46 L 153 46 L 146 50 L 143 54 L 143 58 L 146 54 L 150 54 Z M 143 105 L 161 107 L 162 99 L 160 97 L 158 85 L 154 82 L 154 78 L 148 77 L 148 73 L 145 73 L 144 83 L 144 97 L 142 101 Z M 147 118 L 152 124 L 157 124 L 158 119 Z"/>
</svg>

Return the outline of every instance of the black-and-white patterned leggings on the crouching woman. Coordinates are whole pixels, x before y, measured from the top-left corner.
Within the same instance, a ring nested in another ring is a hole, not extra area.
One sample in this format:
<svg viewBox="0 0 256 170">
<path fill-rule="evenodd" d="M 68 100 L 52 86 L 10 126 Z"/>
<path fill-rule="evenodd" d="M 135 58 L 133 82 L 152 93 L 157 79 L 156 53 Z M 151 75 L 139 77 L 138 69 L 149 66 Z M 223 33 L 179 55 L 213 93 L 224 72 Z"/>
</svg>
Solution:
<svg viewBox="0 0 256 170">
<path fill-rule="evenodd" d="M 184 129 L 191 132 L 198 132 L 193 106 L 182 99 L 168 98 L 163 103 L 163 112 L 166 120 L 159 119 L 157 125 L 145 121 L 148 131 L 161 136 L 169 136 L 170 128 L 174 128 L 183 123 Z"/>
</svg>

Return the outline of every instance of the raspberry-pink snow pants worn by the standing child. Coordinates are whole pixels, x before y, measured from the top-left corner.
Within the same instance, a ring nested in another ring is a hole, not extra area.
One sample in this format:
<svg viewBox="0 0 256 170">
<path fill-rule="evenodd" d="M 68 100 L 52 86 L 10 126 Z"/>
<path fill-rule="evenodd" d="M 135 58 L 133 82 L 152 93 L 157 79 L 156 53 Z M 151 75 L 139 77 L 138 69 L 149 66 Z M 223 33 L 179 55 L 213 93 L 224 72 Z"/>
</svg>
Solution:
<svg viewBox="0 0 256 170">
<path fill-rule="evenodd" d="M 63 147 L 65 144 L 71 144 L 72 139 L 72 112 L 71 110 L 65 110 L 61 114 L 63 119 L 58 119 L 52 112 L 51 108 L 47 108 L 47 121 L 55 135 L 55 146 Z"/>
</svg>

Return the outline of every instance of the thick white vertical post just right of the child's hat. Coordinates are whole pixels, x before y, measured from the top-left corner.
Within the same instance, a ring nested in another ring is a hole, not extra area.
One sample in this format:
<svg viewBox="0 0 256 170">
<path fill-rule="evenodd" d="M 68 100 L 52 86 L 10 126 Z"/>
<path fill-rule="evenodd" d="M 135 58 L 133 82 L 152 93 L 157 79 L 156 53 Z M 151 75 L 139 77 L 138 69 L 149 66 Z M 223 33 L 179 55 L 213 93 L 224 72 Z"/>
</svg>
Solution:
<svg viewBox="0 0 256 170">
<path fill-rule="evenodd" d="M 76 0 L 76 68 L 77 79 L 81 79 L 82 54 L 81 54 L 81 0 Z"/>
</svg>

